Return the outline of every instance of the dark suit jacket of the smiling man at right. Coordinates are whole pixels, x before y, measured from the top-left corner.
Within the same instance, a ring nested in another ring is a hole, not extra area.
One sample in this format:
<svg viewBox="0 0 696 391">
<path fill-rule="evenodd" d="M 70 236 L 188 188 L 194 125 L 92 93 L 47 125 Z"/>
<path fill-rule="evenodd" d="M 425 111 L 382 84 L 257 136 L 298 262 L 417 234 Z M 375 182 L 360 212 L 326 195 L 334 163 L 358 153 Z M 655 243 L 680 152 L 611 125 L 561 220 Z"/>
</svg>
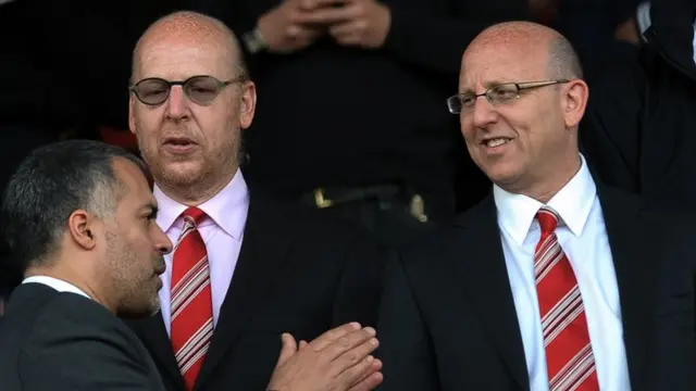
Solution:
<svg viewBox="0 0 696 391">
<path fill-rule="evenodd" d="M 599 187 L 633 390 L 695 390 L 694 236 Z M 693 220 L 692 220 L 693 224 Z M 387 267 L 384 390 L 529 390 L 493 197 Z"/>
</svg>

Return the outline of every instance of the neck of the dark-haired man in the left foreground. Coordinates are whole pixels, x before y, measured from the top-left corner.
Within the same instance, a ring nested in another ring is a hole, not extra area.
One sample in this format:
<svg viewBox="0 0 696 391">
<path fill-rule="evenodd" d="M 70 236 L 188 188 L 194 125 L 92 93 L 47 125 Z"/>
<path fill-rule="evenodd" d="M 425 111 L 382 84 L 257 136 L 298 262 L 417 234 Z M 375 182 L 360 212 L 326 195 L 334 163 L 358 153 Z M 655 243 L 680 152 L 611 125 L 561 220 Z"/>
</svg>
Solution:
<svg viewBox="0 0 696 391">
<path fill-rule="evenodd" d="M 109 312 L 115 314 L 116 303 L 108 300 L 109 294 L 107 294 L 108 289 L 105 289 L 104 281 L 91 279 L 84 272 L 77 272 L 82 269 L 80 266 L 64 266 L 59 261 L 51 265 L 30 267 L 25 272 L 24 277 L 46 276 L 65 281 L 85 292 L 91 300 L 103 305 Z"/>
</svg>

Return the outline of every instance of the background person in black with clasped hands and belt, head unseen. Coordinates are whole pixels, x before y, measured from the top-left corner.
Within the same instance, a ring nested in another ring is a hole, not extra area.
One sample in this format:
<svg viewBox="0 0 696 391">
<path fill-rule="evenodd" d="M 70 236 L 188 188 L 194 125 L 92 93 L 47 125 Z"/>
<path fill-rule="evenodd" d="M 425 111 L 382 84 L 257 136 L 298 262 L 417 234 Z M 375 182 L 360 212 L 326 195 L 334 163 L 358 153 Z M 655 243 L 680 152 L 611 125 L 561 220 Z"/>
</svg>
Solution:
<svg viewBox="0 0 696 391">
<path fill-rule="evenodd" d="M 526 0 L 208 0 L 241 37 L 259 96 L 250 182 L 399 244 L 456 210 L 465 161 L 442 97 L 483 28 Z M 467 178 L 459 200 L 481 195 Z"/>
</svg>

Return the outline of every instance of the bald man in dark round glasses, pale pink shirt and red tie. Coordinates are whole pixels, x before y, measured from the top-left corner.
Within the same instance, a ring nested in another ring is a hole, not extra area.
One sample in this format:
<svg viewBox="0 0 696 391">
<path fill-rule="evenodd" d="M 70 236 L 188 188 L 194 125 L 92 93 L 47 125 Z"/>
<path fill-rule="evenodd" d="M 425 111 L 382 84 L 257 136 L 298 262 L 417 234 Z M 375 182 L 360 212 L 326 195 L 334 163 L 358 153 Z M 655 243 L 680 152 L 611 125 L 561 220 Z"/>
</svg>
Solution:
<svg viewBox="0 0 696 391">
<path fill-rule="evenodd" d="M 282 333 L 296 346 L 333 326 L 374 325 L 378 251 L 352 227 L 247 188 L 240 131 L 256 87 L 224 24 L 167 15 L 138 41 L 133 68 L 130 130 L 154 178 L 157 223 L 177 243 L 165 256 L 161 312 L 133 327 L 167 390 L 281 389 L 269 379 Z M 301 389 L 376 386 L 381 363 L 356 358 L 366 365 L 361 383 Z M 306 358 L 296 367 L 306 378 L 333 376 Z"/>
</svg>

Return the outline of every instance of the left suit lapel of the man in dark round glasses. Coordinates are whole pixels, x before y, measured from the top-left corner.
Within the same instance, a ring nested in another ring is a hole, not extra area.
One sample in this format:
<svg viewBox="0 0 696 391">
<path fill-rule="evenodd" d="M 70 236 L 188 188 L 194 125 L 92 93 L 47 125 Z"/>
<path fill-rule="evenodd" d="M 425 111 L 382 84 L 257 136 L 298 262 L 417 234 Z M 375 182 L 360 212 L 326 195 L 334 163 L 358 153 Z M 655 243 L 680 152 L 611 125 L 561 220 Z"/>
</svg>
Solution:
<svg viewBox="0 0 696 391">
<path fill-rule="evenodd" d="M 184 378 L 178 369 L 178 364 L 176 364 L 172 343 L 164 328 L 162 313 L 158 312 L 157 315 L 147 319 L 129 323 L 150 351 L 152 358 L 160 363 L 160 367 L 164 368 L 165 373 L 162 376 L 169 376 L 179 390 L 185 390 Z"/>
</svg>

